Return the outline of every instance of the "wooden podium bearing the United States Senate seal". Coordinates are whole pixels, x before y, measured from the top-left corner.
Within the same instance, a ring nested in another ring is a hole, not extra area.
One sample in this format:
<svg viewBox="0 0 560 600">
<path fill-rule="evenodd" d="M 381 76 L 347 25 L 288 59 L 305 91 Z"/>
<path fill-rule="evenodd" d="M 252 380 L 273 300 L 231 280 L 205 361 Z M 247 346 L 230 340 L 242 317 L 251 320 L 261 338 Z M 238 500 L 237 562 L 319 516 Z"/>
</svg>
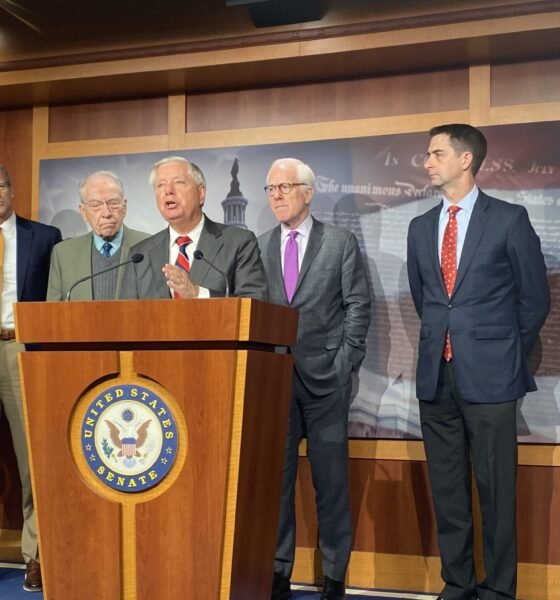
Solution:
<svg viewBox="0 0 560 600">
<path fill-rule="evenodd" d="M 45 598 L 268 600 L 292 378 L 274 347 L 295 343 L 296 311 L 228 298 L 15 314 Z"/>
</svg>

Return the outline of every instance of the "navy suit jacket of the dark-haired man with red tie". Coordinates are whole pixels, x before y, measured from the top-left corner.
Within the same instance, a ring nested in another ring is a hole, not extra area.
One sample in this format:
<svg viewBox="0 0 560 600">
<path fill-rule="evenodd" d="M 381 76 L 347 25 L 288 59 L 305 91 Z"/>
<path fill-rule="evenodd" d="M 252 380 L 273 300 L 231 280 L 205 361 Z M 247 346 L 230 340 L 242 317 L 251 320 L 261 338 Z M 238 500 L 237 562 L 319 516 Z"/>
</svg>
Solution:
<svg viewBox="0 0 560 600">
<path fill-rule="evenodd" d="M 442 205 L 408 231 L 408 279 L 421 319 L 416 394 L 433 400 L 446 331 L 467 402 L 516 400 L 537 389 L 527 355 L 550 308 L 540 240 L 523 206 L 479 192 L 449 298 L 438 256 Z"/>
</svg>

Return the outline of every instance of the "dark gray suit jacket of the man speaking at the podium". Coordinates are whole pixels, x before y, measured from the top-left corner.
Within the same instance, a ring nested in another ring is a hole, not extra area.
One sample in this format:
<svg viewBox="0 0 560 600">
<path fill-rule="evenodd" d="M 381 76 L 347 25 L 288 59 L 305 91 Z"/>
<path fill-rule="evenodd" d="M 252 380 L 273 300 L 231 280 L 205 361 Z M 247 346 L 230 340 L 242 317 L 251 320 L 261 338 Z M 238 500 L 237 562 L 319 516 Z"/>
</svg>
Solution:
<svg viewBox="0 0 560 600">
<path fill-rule="evenodd" d="M 268 300 L 268 286 L 255 235 L 245 229 L 222 225 L 205 217 L 197 250 L 222 271 L 231 296 Z M 136 244 L 130 255 L 141 253 L 144 260 L 126 266 L 120 298 L 170 298 L 162 267 L 169 262 L 169 229 Z M 209 264 L 194 260 L 192 280 L 210 290 L 212 297 L 225 295 L 224 278 Z"/>
</svg>

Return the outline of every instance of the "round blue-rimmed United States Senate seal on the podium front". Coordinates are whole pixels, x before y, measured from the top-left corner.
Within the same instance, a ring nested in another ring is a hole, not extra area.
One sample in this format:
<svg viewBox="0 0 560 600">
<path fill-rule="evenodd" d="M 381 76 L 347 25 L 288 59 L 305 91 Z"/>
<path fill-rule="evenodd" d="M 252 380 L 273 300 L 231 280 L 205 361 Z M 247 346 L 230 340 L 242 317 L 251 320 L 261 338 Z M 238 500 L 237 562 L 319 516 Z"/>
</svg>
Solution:
<svg viewBox="0 0 560 600">
<path fill-rule="evenodd" d="M 82 452 L 105 485 L 143 492 L 169 473 L 177 456 L 176 420 L 166 402 L 141 385 L 113 385 L 98 393 L 81 426 Z"/>
</svg>

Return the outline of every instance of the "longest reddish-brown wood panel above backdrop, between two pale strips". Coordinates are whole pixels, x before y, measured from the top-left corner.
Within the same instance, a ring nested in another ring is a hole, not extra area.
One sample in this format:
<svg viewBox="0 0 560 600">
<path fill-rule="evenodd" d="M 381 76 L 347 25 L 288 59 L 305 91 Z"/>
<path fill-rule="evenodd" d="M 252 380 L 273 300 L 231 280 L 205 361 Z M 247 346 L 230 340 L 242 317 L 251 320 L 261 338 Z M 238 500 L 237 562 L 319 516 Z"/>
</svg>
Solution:
<svg viewBox="0 0 560 600">
<path fill-rule="evenodd" d="M 217 131 L 468 108 L 467 68 L 187 97 L 187 131 Z"/>
</svg>

